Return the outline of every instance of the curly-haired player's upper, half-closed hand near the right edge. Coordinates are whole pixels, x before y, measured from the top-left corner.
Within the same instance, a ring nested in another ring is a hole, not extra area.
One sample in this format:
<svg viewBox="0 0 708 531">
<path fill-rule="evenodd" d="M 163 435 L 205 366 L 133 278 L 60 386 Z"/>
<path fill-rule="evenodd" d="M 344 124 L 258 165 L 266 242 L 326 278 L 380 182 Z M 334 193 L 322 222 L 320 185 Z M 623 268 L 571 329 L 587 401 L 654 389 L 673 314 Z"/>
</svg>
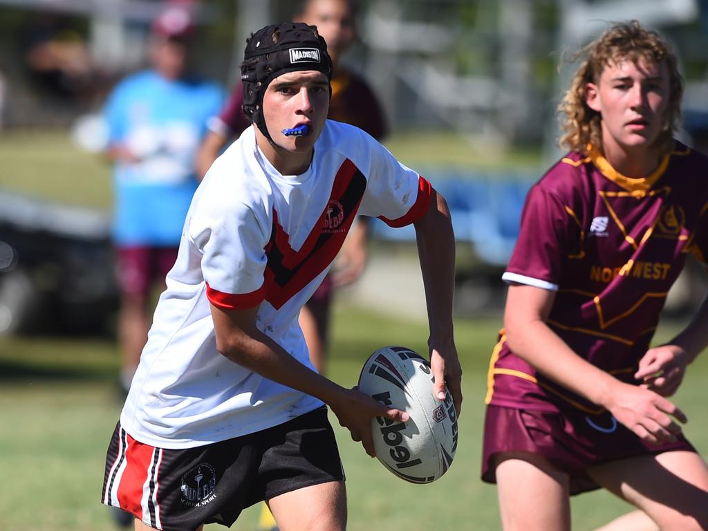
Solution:
<svg viewBox="0 0 708 531">
<path fill-rule="evenodd" d="M 634 373 L 641 385 L 661 396 L 671 396 L 683 380 L 688 362 L 686 351 L 678 345 L 650 348 L 639 360 Z"/>
</svg>

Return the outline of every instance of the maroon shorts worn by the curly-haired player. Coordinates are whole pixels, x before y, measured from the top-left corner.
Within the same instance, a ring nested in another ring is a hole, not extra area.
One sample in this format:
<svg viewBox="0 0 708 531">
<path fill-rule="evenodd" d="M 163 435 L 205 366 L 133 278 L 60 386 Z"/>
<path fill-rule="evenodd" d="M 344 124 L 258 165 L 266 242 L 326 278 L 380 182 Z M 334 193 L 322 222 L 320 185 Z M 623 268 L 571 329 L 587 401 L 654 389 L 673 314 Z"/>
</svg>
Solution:
<svg viewBox="0 0 708 531">
<path fill-rule="evenodd" d="M 696 451 L 683 436 L 663 445 L 645 443 L 607 411 L 592 415 L 570 408 L 554 413 L 487 406 L 481 476 L 496 483 L 495 455 L 530 452 L 569 474 L 571 494 L 579 494 L 600 488 L 587 474 L 594 465 L 672 450 Z"/>
</svg>

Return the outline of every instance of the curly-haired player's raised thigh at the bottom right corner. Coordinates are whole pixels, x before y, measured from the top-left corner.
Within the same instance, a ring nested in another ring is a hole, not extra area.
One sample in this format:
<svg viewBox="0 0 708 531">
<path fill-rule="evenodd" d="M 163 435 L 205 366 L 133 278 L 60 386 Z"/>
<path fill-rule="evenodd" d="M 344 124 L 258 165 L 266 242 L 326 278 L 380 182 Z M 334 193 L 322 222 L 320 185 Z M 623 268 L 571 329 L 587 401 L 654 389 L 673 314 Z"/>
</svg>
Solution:
<svg viewBox="0 0 708 531">
<path fill-rule="evenodd" d="M 597 465 L 588 474 L 643 510 L 662 530 L 708 529 L 708 467 L 695 452 L 622 459 Z"/>
</svg>

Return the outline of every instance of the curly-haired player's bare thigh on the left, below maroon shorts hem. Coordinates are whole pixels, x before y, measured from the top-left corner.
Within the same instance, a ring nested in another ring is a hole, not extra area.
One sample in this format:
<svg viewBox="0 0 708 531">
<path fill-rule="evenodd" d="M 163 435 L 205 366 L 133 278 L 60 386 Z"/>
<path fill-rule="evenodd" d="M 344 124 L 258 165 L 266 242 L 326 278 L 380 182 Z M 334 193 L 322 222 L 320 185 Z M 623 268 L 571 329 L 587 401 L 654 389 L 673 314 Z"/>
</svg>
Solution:
<svg viewBox="0 0 708 531">
<path fill-rule="evenodd" d="M 498 454 L 496 482 L 504 531 L 569 531 L 569 474 L 527 452 Z"/>
</svg>

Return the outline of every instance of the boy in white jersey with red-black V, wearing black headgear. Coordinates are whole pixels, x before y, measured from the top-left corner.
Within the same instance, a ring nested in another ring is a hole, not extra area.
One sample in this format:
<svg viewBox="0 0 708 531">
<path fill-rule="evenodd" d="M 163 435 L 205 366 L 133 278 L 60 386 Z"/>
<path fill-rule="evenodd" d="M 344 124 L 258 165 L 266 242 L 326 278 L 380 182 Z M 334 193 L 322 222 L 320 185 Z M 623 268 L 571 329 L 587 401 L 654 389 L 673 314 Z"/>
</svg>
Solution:
<svg viewBox="0 0 708 531">
<path fill-rule="evenodd" d="M 370 421 L 408 415 L 316 374 L 297 324 L 355 216 L 414 223 L 435 394 L 461 369 L 445 200 L 356 127 L 326 120 L 331 61 L 314 26 L 256 32 L 241 65 L 246 130 L 205 176 L 108 449 L 103 503 L 135 528 L 231 525 L 267 500 L 281 527 L 343 530 L 327 404 L 374 455 Z"/>
</svg>

